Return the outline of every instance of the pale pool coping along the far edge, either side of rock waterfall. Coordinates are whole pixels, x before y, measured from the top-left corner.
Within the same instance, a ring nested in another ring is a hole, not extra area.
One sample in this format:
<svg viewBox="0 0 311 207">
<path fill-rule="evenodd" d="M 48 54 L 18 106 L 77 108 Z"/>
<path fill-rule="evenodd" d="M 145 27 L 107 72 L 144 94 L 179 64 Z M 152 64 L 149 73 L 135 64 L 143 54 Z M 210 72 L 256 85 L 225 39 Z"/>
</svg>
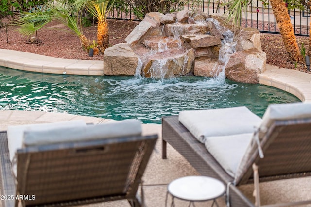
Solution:
<svg viewBox="0 0 311 207">
<path fill-rule="evenodd" d="M 31 72 L 104 75 L 102 60 L 75 60 L 29 52 L 0 49 L 0 66 Z M 311 74 L 266 64 L 259 83 L 289 92 L 303 102 L 311 102 Z"/>
</svg>

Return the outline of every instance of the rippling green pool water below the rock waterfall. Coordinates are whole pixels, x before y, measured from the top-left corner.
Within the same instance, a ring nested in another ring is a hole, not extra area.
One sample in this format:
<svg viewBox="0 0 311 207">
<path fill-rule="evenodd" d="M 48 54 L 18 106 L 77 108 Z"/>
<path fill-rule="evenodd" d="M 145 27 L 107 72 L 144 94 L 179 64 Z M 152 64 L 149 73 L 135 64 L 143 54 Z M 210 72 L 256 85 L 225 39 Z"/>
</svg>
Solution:
<svg viewBox="0 0 311 207">
<path fill-rule="evenodd" d="M 0 110 L 65 112 L 161 123 L 182 110 L 247 106 L 262 116 L 269 104 L 299 102 L 282 90 L 202 77 L 52 75 L 0 67 Z"/>
</svg>

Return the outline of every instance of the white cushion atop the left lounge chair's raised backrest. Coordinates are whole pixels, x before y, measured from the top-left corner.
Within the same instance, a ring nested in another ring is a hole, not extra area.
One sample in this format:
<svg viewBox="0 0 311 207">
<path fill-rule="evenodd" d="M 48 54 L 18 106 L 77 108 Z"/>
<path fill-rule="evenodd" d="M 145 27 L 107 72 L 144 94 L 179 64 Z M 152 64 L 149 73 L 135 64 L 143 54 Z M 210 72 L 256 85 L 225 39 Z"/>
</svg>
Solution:
<svg viewBox="0 0 311 207">
<path fill-rule="evenodd" d="M 34 146 L 71 141 L 86 141 L 141 135 L 138 120 L 128 120 L 82 127 L 67 127 L 49 130 L 27 130 L 24 132 L 23 146 Z"/>
</svg>

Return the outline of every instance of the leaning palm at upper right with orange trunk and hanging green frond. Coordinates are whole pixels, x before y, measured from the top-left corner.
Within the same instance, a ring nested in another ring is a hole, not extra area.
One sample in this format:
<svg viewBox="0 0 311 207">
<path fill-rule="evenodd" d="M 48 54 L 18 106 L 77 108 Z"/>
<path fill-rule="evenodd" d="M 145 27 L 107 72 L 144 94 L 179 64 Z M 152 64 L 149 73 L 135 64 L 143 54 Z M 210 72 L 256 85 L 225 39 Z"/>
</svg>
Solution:
<svg viewBox="0 0 311 207">
<path fill-rule="evenodd" d="M 227 22 L 232 20 L 235 24 L 240 23 L 242 18 L 242 9 L 245 9 L 246 11 L 248 2 L 248 0 L 231 0 L 226 3 L 225 5 L 229 6 L 226 12 Z M 289 53 L 290 57 L 294 61 L 298 62 L 302 60 L 303 57 L 300 53 L 285 3 L 283 0 L 270 0 L 270 5 L 275 15 L 277 25 L 280 29 L 286 52 Z"/>
</svg>

